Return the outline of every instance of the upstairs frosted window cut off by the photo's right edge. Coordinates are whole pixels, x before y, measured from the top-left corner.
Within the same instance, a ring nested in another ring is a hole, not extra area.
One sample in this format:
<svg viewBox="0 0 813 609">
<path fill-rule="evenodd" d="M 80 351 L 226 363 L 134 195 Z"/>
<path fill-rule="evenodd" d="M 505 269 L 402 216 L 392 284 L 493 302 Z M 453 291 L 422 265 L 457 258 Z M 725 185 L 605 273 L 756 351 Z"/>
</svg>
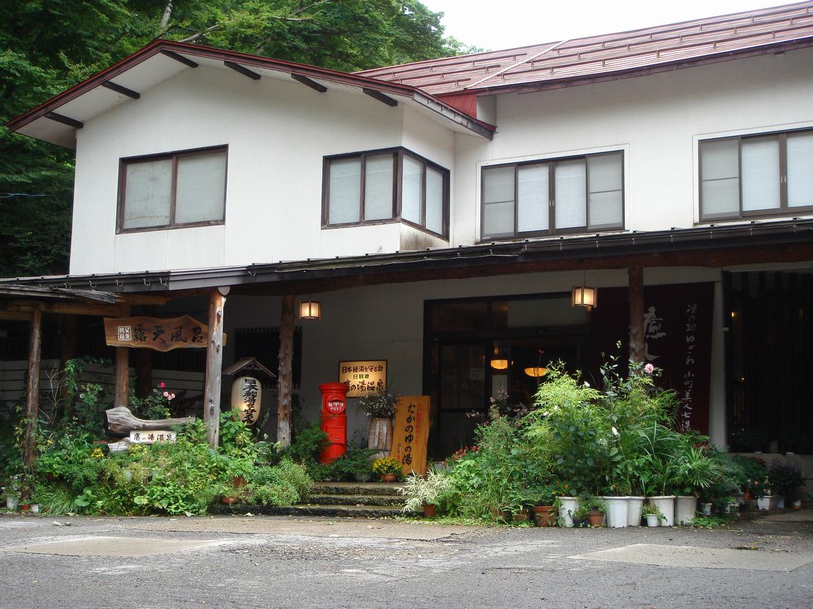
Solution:
<svg viewBox="0 0 813 609">
<path fill-rule="evenodd" d="M 813 129 L 700 142 L 700 219 L 813 210 Z"/>
</svg>

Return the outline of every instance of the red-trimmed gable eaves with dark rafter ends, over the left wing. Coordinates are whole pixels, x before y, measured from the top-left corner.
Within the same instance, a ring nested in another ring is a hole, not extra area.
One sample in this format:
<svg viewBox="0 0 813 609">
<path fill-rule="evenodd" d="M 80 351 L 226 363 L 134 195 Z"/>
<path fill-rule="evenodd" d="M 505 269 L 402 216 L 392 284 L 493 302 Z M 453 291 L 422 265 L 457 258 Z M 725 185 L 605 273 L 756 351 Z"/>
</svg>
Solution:
<svg viewBox="0 0 813 609">
<path fill-rule="evenodd" d="M 314 94 L 324 94 L 328 89 L 333 89 L 367 94 L 389 106 L 405 103 L 459 133 L 490 139 L 496 130 L 493 125 L 476 120 L 411 85 L 168 40 L 157 40 L 137 50 L 106 70 L 9 121 L 7 127 L 11 131 L 73 148 L 76 129 L 82 128 L 85 121 L 124 102 L 137 100 L 141 93 L 163 80 L 200 65 L 231 69 L 254 80 L 293 79 L 314 89 Z"/>
</svg>

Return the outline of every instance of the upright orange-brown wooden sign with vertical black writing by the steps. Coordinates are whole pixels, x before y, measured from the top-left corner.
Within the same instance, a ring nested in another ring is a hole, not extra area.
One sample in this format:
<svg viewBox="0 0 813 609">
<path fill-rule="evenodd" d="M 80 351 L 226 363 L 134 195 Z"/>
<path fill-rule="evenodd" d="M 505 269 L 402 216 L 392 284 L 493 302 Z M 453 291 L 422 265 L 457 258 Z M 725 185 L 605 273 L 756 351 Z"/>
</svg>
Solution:
<svg viewBox="0 0 813 609">
<path fill-rule="evenodd" d="M 429 439 L 429 396 L 398 398 L 393 425 L 393 447 L 389 455 L 402 464 L 404 475 L 426 473 L 426 446 Z"/>
</svg>

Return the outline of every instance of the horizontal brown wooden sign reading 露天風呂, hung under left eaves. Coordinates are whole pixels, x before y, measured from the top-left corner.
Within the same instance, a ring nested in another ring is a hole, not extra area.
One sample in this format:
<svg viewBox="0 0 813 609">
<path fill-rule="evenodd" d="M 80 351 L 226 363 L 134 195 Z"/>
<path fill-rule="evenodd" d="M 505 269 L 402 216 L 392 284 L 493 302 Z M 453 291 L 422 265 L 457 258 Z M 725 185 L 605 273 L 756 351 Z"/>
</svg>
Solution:
<svg viewBox="0 0 813 609">
<path fill-rule="evenodd" d="M 110 346 L 170 351 L 206 349 L 207 324 L 189 315 L 162 320 L 157 317 L 105 317 L 105 340 Z M 226 335 L 223 335 L 226 344 Z"/>
</svg>

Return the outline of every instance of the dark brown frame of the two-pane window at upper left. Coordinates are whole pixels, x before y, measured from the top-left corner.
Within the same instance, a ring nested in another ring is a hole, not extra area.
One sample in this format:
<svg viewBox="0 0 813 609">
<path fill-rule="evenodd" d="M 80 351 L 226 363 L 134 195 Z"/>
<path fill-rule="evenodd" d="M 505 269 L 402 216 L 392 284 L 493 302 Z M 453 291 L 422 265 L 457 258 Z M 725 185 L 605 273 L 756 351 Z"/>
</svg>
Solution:
<svg viewBox="0 0 813 609">
<path fill-rule="evenodd" d="M 223 218 L 220 220 L 201 220 L 197 222 L 176 222 L 175 221 L 175 198 L 177 192 L 177 177 L 178 177 L 178 159 L 189 156 L 197 156 L 198 154 L 212 154 L 223 152 L 225 154 L 224 163 L 226 163 L 223 181 Z M 159 224 L 156 226 L 143 226 L 134 228 L 124 228 L 124 194 L 127 192 L 127 167 L 136 163 L 152 163 L 154 161 L 162 161 L 172 159 L 172 181 L 170 182 L 170 207 L 169 207 L 169 224 Z M 115 232 L 119 233 L 147 233 L 156 230 L 170 230 L 173 228 L 193 228 L 196 226 L 218 226 L 226 222 L 226 192 L 228 185 L 228 145 L 223 144 L 220 146 L 206 146 L 204 148 L 190 148 L 187 150 L 172 150 L 172 152 L 163 152 L 159 154 L 141 154 L 138 156 L 130 156 L 119 159 L 119 193 L 118 203 L 116 209 L 116 226 Z"/>
</svg>

